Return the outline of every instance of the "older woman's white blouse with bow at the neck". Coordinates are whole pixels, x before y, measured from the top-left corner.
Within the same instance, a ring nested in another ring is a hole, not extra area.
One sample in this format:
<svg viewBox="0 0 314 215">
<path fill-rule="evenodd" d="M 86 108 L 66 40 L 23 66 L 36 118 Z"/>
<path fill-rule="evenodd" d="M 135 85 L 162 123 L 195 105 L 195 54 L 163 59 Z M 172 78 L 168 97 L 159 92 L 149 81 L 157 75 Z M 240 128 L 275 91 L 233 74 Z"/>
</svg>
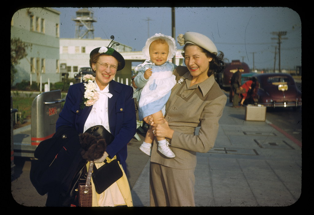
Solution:
<svg viewBox="0 0 314 215">
<path fill-rule="evenodd" d="M 92 110 L 90 111 L 84 125 L 84 132 L 91 126 L 96 125 L 102 125 L 106 128 L 107 131 L 110 132 L 108 120 L 108 97 L 111 98 L 112 94 L 109 93 L 109 83 L 103 90 L 99 89 L 95 81 L 94 83 L 96 85 L 96 91 L 99 94 L 99 99 L 92 106 Z"/>
</svg>

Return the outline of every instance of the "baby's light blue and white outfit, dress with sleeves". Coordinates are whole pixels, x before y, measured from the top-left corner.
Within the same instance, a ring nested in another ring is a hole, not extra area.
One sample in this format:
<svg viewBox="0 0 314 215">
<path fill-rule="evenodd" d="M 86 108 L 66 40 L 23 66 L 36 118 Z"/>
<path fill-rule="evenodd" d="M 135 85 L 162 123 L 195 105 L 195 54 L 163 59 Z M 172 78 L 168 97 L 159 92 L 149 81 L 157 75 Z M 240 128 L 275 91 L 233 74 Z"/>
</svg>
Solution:
<svg viewBox="0 0 314 215">
<path fill-rule="evenodd" d="M 145 79 L 144 72 L 148 68 L 152 68 L 152 76 Z M 160 110 L 165 115 L 165 105 L 172 87 L 176 84 L 176 76 L 173 75 L 175 68 L 176 65 L 168 61 L 163 65 L 156 66 L 149 60 L 135 68 L 138 74 L 134 78 L 134 82 L 138 88 L 134 91 L 133 98 L 138 100 L 139 120 Z"/>
</svg>

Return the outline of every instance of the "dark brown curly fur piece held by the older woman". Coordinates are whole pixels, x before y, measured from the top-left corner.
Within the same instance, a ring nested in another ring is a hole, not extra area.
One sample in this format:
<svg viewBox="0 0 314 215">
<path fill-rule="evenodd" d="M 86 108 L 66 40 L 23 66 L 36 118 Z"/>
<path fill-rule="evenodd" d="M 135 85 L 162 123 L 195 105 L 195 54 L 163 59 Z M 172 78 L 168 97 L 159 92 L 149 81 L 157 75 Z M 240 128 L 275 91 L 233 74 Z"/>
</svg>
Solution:
<svg viewBox="0 0 314 215">
<path fill-rule="evenodd" d="M 106 140 L 100 136 L 83 133 L 79 136 L 82 146 L 82 157 L 85 160 L 96 160 L 103 156 L 106 151 Z"/>
</svg>

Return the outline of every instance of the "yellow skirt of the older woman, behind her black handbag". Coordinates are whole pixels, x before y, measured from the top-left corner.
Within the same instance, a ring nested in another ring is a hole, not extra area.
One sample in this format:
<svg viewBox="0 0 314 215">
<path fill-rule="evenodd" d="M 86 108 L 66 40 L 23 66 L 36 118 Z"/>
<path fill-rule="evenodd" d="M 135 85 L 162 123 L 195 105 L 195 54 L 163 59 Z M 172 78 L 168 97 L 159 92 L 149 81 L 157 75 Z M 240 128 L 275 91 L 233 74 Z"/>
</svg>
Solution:
<svg viewBox="0 0 314 215">
<path fill-rule="evenodd" d="M 116 159 L 116 156 L 113 159 L 106 158 L 107 163 L 110 163 L 112 160 Z M 129 183 L 127 181 L 127 176 L 122 168 L 122 165 L 118 161 L 120 168 L 122 170 L 122 177 L 113 183 L 110 187 L 108 187 L 104 192 L 98 194 L 95 190 L 93 179 L 91 179 L 92 183 L 92 193 L 93 207 L 115 207 L 126 205 L 127 207 L 133 207 L 131 190 Z M 105 163 L 95 163 L 97 169 L 102 165 L 106 165 Z M 87 169 L 89 168 L 89 162 L 86 164 Z"/>
</svg>

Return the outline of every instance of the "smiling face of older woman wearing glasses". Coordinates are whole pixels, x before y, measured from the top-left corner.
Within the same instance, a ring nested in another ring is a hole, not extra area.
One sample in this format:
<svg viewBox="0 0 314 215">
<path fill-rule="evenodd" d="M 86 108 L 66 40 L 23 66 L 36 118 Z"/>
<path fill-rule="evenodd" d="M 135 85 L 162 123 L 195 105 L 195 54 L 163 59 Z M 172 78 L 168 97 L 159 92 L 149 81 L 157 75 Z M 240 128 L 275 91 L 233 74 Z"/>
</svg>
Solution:
<svg viewBox="0 0 314 215">
<path fill-rule="evenodd" d="M 113 80 L 116 75 L 118 61 L 110 55 L 100 55 L 96 63 L 93 63 L 93 68 L 96 68 L 95 81 L 100 90 L 103 90 L 108 83 Z"/>
</svg>

